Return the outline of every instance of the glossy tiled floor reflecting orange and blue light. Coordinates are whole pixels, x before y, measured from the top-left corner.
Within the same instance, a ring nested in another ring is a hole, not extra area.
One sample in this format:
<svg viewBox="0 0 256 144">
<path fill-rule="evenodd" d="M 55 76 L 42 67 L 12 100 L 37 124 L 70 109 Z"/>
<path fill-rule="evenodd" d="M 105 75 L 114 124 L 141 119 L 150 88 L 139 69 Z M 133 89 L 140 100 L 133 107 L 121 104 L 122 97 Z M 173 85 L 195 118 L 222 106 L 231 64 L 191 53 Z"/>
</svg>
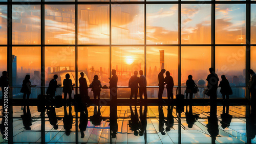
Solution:
<svg viewBox="0 0 256 144">
<path fill-rule="evenodd" d="M 100 106 L 99 113 L 98 107 L 91 106 L 88 108 L 89 121 L 84 138 L 81 138 L 78 126 L 76 129 L 76 121 L 79 125 L 79 118 L 75 118 L 74 106 L 70 110 L 74 116 L 70 135 L 66 135 L 63 127 L 62 117 L 65 115 L 63 107 L 55 109 L 56 115 L 62 118 L 57 122 L 58 129 L 53 128 L 48 115 L 45 115 L 45 131 L 41 131 L 40 112 L 35 106 L 29 107 L 32 117 L 31 130 L 24 128 L 23 120 L 20 118 L 20 115 L 24 114 L 23 108 L 23 106 L 13 106 L 13 142 L 16 143 L 40 143 L 41 132 L 45 132 L 45 142 L 49 143 L 76 143 L 76 141 L 79 143 L 179 143 L 179 130 L 181 143 L 250 143 L 250 141 L 256 143 L 254 138 L 256 133 L 253 132 L 256 131 L 255 125 L 245 117 L 245 106 L 229 107 L 229 115 L 232 115 L 232 119 L 230 126 L 226 124 L 226 128 L 222 127 L 225 122 L 229 123 L 228 118 L 227 121 L 223 118 L 223 106 L 217 106 L 216 125 L 208 120 L 212 119 L 210 106 L 185 106 L 180 117 L 176 106 L 147 106 L 147 109 L 145 106 L 136 106 L 136 108 L 117 106 L 117 121 L 113 121 L 110 114 L 114 112 L 115 115 L 115 107 Z M 67 107 L 67 112 L 69 108 Z M 77 114 L 80 116 L 79 113 Z M 143 114 L 146 114 L 145 121 Z M 146 127 L 145 131 L 143 126 Z M 169 126 L 170 130 L 166 126 Z M 112 134 L 115 129 L 117 129 L 116 137 Z M 6 142 L 2 136 L 0 141 Z"/>
</svg>

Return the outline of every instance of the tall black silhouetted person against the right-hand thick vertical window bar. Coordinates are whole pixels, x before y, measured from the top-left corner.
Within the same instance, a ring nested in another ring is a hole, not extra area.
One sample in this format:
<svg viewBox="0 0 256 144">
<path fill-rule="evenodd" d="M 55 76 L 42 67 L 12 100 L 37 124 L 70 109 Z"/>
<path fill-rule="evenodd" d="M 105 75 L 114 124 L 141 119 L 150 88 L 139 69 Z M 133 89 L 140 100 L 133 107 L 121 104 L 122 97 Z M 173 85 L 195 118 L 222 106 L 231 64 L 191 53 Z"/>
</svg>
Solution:
<svg viewBox="0 0 256 144">
<path fill-rule="evenodd" d="M 210 74 L 207 76 L 207 88 L 209 89 L 209 97 L 211 102 L 215 102 L 217 100 L 217 88 L 218 88 L 218 75 L 215 74 L 214 68 L 209 68 Z"/>
</svg>

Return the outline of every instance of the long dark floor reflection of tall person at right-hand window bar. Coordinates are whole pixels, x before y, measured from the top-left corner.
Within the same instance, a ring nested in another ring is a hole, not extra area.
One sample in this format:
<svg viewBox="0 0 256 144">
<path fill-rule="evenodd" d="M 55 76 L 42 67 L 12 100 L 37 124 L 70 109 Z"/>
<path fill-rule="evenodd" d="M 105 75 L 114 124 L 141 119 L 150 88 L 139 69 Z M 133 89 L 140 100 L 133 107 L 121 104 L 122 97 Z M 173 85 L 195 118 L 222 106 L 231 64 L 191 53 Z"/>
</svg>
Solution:
<svg viewBox="0 0 256 144">
<path fill-rule="evenodd" d="M 208 116 L 208 124 L 206 127 L 211 137 L 211 143 L 215 143 L 216 136 L 219 134 L 217 103 L 212 103 L 210 105 L 210 116 Z"/>
</svg>

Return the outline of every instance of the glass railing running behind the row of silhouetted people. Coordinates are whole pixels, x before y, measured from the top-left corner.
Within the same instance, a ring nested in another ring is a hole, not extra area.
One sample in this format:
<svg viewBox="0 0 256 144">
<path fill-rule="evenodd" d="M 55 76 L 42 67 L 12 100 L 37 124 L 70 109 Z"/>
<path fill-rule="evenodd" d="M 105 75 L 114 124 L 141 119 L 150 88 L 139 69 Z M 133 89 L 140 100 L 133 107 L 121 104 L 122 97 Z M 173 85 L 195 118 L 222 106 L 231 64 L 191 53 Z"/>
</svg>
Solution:
<svg viewBox="0 0 256 144">
<path fill-rule="evenodd" d="M 173 94 L 174 94 L 174 98 L 176 95 L 176 89 L 178 86 L 174 86 L 173 89 Z M 185 93 L 185 89 L 186 86 L 180 86 L 181 87 L 181 93 L 186 95 Z M 246 86 L 230 86 L 233 94 L 229 96 L 229 98 L 245 98 L 245 89 Z M 23 93 L 20 92 L 20 89 L 22 88 L 22 86 L 12 86 L 10 87 L 12 90 L 12 97 L 14 99 L 18 99 L 18 98 L 23 98 Z M 30 94 L 30 98 L 31 99 L 36 99 L 38 94 L 41 94 L 41 88 L 45 88 L 45 91 L 47 90 L 47 86 L 36 86 L 36 87 L 31 87 L 31 94 Z M 55 92 L 55 95 L 63 95 L 62 93 L 62 88 L 63 87 L 58 87 L 57 91 Z M 75 89 L 77 89 L 78 93 L 79 93 L 79 87 L 74 87 Z M 151 99 L 151 98 L 158 98 L 158 86 L 147 86 L 147 98 Z M 204 89 L 207 88 L 207 86 L 198 86 L 199 88 L 199 92 L 194 94 L 194 98 L 209 98 L 207 95 L 205 95 L 203 93 Z M 2 98 L 2 90 L 0 90 L 0 98 Z M 117 98 L 122 98 L 122 99 L 130 99 L 130 88 L 127 86 L 119 86 L 118 90 L 117 90 Z M 91 88 L 89 88 L 88 93 L 90 95 L 91 98 L 93 98 L 93 92 L 91 91 Z M 75 90 L 72 92 L 72 98 L 74 98 L 74 94 L 75 94 Z M 110 90 L 109 88 L 102 88 L 101 89 L 101 93 L 100 93 L 100 97 L 101 98 L 110 98 Z M 138 98 L 139 98 L 139 94 L 138 94 Z M 167 98 L 167 90 L 166 88 L 164 89 L 163 92 L 163 98 Z M 222 94 L 220 93 L 220 88 L 218 88 L 217 90 L 217 98 L 222 98 Z"/>
</svg>

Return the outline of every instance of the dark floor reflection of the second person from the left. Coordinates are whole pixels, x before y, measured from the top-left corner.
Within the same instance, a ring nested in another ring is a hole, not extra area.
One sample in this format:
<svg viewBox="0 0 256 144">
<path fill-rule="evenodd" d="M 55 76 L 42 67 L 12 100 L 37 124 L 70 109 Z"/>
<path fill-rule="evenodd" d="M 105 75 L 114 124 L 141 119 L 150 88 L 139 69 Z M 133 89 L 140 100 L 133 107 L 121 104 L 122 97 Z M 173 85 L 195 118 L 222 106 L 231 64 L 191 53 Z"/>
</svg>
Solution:
<svg viewBox="0 0 256 144">
<path fill-rule="evenodd" d="M 29 106 L 27 106 L 27 111 L 26 111 L 26 106 L 23 108 L 23 115 L 20 115 L 22 117 L 22 122 L 23 126 L 26 130 L 31 130 L 30 126 L 32 126 L 32 119 L 31 119 L 31 113 Z"/>
</svg>

